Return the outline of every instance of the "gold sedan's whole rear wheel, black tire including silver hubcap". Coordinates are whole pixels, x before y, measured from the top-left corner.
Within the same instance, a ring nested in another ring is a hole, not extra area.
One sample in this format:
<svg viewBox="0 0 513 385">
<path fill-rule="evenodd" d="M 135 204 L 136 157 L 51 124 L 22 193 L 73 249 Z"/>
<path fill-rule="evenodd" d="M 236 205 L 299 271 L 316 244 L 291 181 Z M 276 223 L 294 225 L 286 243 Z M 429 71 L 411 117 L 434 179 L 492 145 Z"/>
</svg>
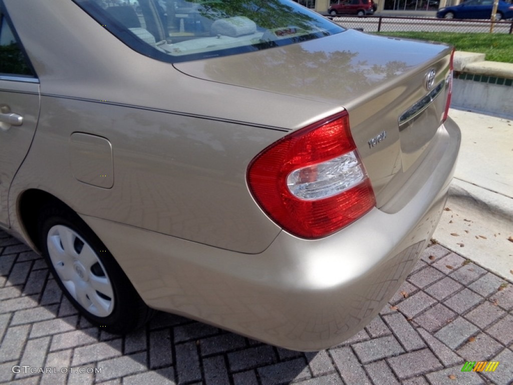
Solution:
<svg viewBox="0 0 513 385">
<path fill-rule="evenodd" d="M 107 247 L 71 209 L 49 205 L 38 220 L 40 246 L 50 271 L 70 302 L 91 323 L 114 334 L 144 325 L 154 311 Z"/>
</svg>

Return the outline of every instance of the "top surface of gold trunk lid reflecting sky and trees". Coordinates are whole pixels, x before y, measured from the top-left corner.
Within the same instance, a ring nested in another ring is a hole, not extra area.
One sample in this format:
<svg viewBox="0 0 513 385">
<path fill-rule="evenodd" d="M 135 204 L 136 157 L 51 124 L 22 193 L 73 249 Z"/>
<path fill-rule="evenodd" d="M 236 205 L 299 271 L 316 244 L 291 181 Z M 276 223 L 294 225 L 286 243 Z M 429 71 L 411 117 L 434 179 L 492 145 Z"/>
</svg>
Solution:
<svg viewBox="0 0 513 385">
<path fill-rule="evenodd" d="M 198 78 L 340 103 L 423 65 L 444 49 L 442 45 L 351 30 L 300 44 L 175 66 Z"/>
</svg>

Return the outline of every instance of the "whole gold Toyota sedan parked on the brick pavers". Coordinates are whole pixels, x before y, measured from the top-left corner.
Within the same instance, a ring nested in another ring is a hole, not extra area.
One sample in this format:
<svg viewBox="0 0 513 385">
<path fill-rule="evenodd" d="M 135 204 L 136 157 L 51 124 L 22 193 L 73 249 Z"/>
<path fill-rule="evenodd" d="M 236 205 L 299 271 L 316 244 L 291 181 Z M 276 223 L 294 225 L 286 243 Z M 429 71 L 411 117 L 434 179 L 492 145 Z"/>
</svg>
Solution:
<svg viewBox="0 0 513 385">
<path fill-rule="evenodd" d="M 452 48 L 288 0 L 139 5 L 0 0 L 2 228 L 113 333 L 156 309 L 344 341 L 441 215 Z"/>
</svg>

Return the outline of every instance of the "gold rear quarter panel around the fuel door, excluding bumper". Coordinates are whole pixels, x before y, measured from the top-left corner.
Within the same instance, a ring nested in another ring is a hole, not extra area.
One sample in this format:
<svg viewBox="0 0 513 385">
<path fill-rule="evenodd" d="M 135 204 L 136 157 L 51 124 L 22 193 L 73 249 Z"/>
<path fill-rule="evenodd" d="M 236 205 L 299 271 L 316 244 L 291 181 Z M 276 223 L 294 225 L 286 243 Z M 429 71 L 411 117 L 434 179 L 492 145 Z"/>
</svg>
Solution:
<svg viewBox="0 0 513 385">
<path fill-rule="evenodd" d="M 216 247 L 258 253 L 272 242 L 280 229 L 253 202 L 247 164 L 341 107 L 195 79 L 132 51 L 69 0 L 5 3 L 42 95 L 10 191 L 14 218 L 19 196 L 37 188 L 82 215 Z M 112 188 L 74 178 L 73 132 L 110 141 Z"/>
</svg>

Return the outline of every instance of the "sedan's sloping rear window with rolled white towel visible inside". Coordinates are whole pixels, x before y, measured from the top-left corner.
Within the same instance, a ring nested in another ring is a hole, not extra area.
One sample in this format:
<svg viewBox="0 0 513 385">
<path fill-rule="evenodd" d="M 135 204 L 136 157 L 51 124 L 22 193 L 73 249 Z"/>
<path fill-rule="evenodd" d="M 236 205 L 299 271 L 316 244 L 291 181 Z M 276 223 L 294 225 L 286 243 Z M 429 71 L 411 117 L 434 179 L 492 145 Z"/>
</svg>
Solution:
<svg viewBox="0 0 513 385">
<path fill-rule="evenodd" d="M 73 0 L 137 52 L 184 62 L 284 46 L 344 29 L 289 0 Z"/>
</svg>

